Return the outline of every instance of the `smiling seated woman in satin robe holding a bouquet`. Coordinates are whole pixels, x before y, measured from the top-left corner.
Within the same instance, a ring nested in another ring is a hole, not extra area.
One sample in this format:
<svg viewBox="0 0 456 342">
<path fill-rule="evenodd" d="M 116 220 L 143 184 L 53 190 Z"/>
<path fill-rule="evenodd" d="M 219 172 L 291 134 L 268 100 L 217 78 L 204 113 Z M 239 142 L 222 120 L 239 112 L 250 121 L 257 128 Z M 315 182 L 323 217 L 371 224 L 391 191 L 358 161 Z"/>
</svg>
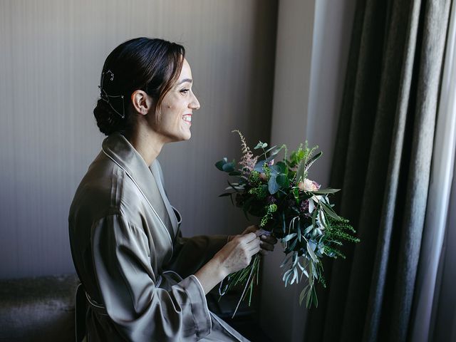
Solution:
<svg viewBox="0 0 456 342">
<path fill-rule="evenodd" d="M 157 156 L 190 139 L 199 103 L 185 49 L 127 41 L 106 58 L 93 113 L 108 135 L 71 204 L 71 252 L 86 291 L 88 341 L 247 341 L 205 295 L 275 239 L 182 238 Z"/>
</svg>

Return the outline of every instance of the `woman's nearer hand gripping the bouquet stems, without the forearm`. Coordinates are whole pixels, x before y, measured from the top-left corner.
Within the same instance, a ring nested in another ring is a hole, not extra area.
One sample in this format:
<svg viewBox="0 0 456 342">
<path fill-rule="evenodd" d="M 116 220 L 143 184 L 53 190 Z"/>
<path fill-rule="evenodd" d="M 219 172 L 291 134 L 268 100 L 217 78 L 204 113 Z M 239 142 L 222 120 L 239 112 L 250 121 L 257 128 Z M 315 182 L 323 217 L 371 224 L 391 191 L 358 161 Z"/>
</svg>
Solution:
<svg viewBox="0 0 456 342">
<path fill-rule="evenodd" d="M 249 266 L 252 257 L 260 251 L 260 239 L 253 232 L 236 235 L 215 254 L 224 273 L 231 274 Z"/>
</svg>

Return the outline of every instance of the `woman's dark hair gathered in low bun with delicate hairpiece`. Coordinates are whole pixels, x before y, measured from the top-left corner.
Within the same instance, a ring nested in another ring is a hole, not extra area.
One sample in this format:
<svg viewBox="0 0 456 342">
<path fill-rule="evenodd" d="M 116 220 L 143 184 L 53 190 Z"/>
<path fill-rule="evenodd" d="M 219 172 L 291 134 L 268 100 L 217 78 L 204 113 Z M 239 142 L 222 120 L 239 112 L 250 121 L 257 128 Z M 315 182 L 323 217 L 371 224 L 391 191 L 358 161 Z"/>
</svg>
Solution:
<svg viewBox="0 0 456 342">
<path fill-rule="evenodd" d="M 155 100 L 155 120 L 160 120 L 160 104 L 179 78 L 184 57 L 183 46 L 159 38 L 135 38 L 115 48 L 103 66 L 93 110 L 101 133 L 125 134 L 133 128 L 128 106 L 138 89 Z"/>
</svg>

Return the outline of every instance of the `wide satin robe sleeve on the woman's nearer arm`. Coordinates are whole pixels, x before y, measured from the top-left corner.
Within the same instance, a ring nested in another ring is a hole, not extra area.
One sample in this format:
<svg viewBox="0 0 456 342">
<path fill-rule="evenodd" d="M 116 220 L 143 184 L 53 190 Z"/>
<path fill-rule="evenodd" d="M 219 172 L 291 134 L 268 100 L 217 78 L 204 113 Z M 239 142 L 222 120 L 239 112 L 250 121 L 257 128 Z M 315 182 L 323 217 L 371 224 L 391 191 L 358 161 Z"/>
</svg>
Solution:
<svg viewBox="0 0 456 342">
<path fill-rule="evenodd" d="M 155 284 L 147 235 L 121 214 L 95 222 L 95 277 L 108 316 L 128 341 L 198 341 L 212 328 L 204 291 L 188 276 L 170 291 Z"/>
</svg>

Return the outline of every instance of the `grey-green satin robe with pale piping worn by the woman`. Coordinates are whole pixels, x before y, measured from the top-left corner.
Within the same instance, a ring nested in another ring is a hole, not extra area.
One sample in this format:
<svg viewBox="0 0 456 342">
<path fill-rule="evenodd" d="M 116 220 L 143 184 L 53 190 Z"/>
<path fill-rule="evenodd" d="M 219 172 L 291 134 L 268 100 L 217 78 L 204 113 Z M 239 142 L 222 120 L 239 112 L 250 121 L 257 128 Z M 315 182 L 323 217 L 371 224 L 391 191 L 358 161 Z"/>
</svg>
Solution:
<svg viewBox="0 0 456 342">
<path fill-rule="evenodd" d="M 123 135 L 106 138 L 68 218 L 88 341 L 247 341 L 207 309 L 192 275 L 227 237 L 182 238 L 177 216 L 159 163 L 147 167 Z"/>
</svg>

